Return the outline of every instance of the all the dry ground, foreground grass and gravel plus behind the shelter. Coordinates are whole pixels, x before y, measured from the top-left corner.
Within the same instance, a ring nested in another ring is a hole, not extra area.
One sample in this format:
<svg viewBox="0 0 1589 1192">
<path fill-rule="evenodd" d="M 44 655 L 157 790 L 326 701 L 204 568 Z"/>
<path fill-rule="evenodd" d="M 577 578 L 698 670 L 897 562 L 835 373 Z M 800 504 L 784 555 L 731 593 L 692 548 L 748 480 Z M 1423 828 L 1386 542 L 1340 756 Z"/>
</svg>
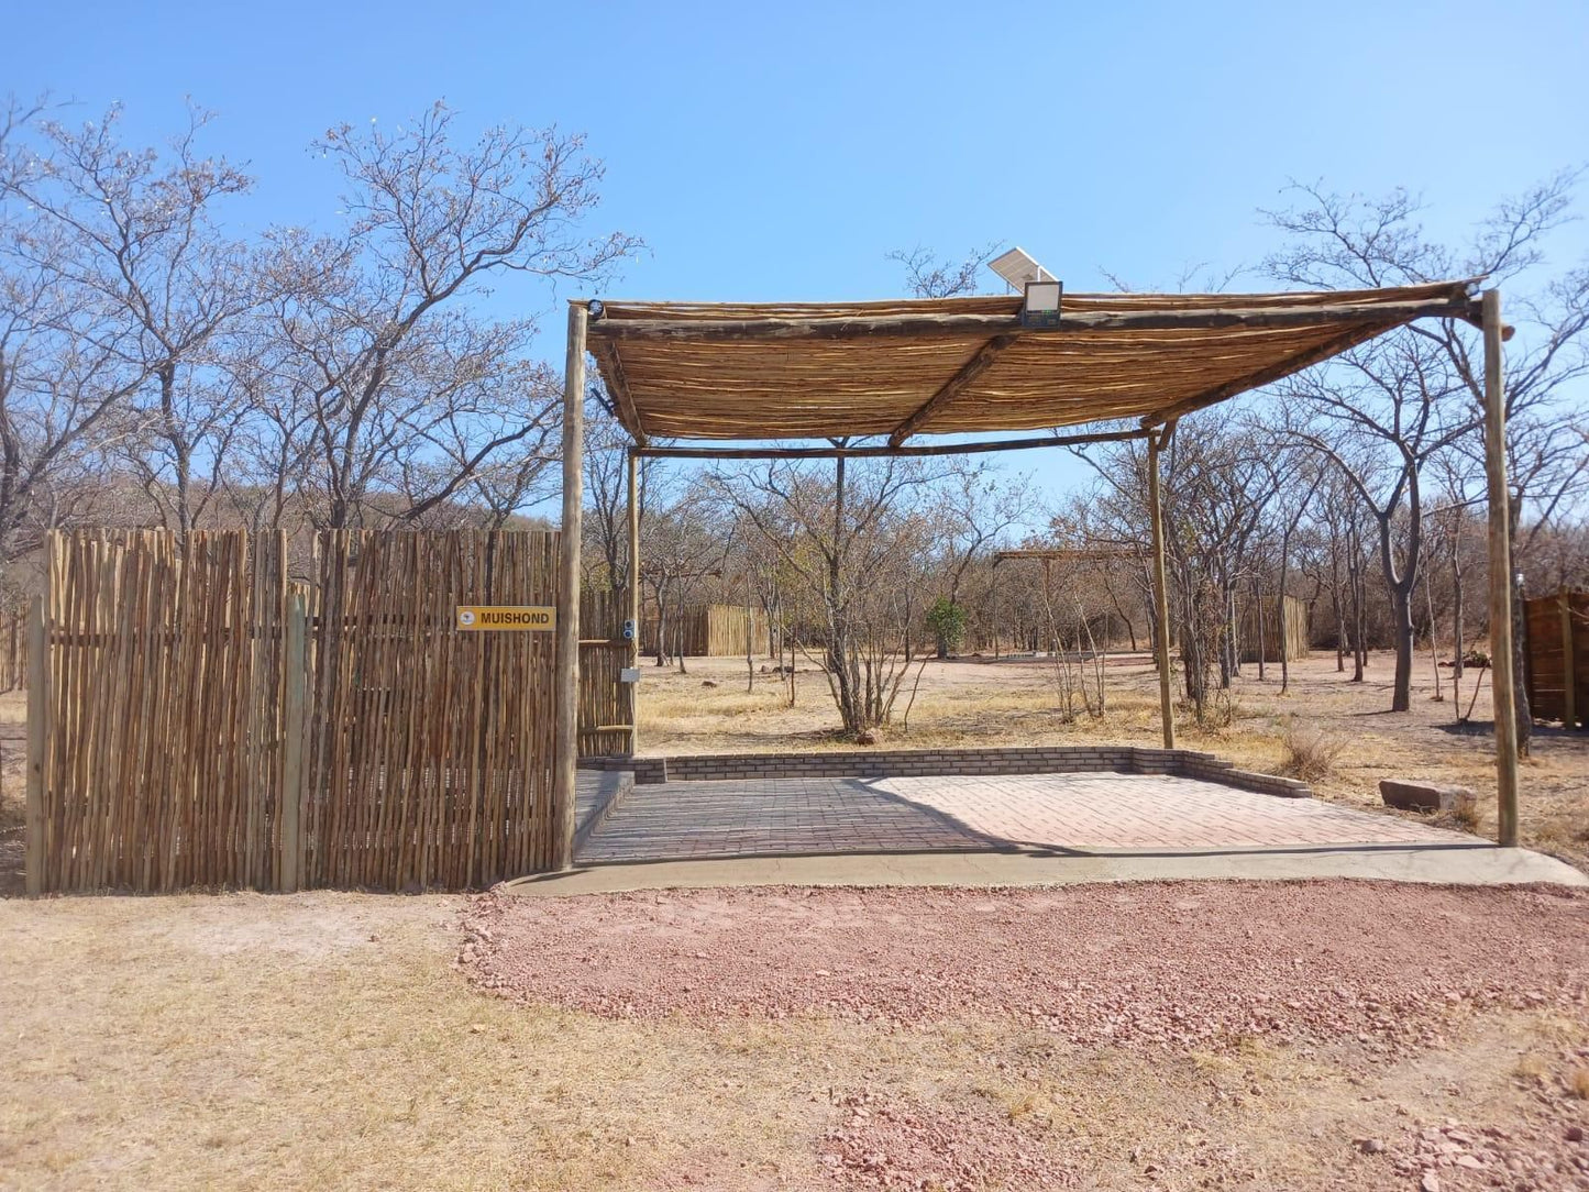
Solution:
<svg viewBox="0 0 1589 1192">
<path fill-rule="evenodd" d="M 1338 736 L 1330 798 L 1487 791 L 1486 730 L 1427 688 L 1384 712 L 1387 671 L 1249 674 L 1182 736 L 1265 769 L 1290 725 Z M 798 680 L 785 709 L 733 660 L 648 671 L 642 745 L 844 744 Z M 1141 660 L 1109 701 L 1061 723 L 1041 663 L 934 664 L 888 736 L 1157 741 Z M 22 736 L 0 698 L 16 860 Z M 1589 744 L 1545 736 L 1525 838 L 1581 865 L 1586 785 Z M 0 1189 L 1589 1189 L 1586 911 L 1344 882 L 0 898 Z"/>
</svg>

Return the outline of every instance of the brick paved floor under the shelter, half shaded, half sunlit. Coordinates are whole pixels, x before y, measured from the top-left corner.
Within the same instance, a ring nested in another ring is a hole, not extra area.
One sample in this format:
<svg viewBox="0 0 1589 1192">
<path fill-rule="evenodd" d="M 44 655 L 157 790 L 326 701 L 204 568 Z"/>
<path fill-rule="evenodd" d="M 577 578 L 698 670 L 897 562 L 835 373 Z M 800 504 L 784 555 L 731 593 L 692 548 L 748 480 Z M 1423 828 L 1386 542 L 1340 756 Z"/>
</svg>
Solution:
<svg viewBox="0 0 1589 1192">
<path fill-rule="evenodd" d="M 636 787 L 580 850 L 580 860 L 1471 842 L 1470 836 L 1335 803 L 1170 776 L 755 779 Z"/>
</svg>

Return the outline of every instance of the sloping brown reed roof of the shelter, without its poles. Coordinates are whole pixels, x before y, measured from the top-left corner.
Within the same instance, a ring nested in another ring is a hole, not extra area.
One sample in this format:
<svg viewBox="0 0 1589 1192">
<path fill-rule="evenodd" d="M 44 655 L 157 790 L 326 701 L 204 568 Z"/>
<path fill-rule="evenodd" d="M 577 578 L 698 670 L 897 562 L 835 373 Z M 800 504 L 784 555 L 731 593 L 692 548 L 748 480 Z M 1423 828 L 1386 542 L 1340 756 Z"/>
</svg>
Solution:
<svg viewBox="0 0 1589 1192">
<path fill-rule="evenodd" d="M 1282 294 L 1065 294 L 831 304 L 591 300 L 588 346 L 639 448 L 1152 428 L 1289 377 L 1417 318 L 1479 323 L 1475 281 Z M 1114 432 L 1109 437 L 1120 435 Z M 1076 435 L 1082 439 L 1090 435 Z M 1025 442 L 1025 440 L 1022 440 Z M 974 450 L 974 448 L 972 448 Z M 661 451 L 658 451 L 661 453 Z M 733 455 L 701 448 L 701 455 Z M 750 451 L 747 451 L 748 455 Z M 812 450 L 812 455 L 829 448 Z"/>
</svg>

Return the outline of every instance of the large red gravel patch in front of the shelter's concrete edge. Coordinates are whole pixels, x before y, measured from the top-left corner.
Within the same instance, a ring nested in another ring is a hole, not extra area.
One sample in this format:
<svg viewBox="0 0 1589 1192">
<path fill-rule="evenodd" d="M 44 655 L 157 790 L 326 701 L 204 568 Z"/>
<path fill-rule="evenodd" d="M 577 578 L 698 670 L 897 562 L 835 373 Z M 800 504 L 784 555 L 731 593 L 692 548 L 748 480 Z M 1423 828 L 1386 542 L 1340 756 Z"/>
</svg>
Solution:
<svg viewBox="0 0 1589 1192">
<path fill-rule="evenodd" d="M 1427 1046 L 1456 1008 L 1589 1006 L 1562 887 L 1174 882 L 470 900 L 459 966 L 609 1017 L 1007 1014 L 1077 1044 Z"/>
</svg>

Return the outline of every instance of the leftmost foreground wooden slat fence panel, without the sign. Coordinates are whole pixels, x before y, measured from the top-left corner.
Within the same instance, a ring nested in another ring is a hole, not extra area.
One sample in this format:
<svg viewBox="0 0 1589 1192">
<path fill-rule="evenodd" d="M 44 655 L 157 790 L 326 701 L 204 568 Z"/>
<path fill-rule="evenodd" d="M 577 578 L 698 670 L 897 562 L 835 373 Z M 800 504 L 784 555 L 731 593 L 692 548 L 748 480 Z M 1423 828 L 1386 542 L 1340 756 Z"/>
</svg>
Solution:
<svg viewBox="0 0 1589 1192">
<path fill-rule="evenodd" d="M 275 887 L 283 559 L 273 536 L 52 536 L 41 888 Z"/>
</svg>

